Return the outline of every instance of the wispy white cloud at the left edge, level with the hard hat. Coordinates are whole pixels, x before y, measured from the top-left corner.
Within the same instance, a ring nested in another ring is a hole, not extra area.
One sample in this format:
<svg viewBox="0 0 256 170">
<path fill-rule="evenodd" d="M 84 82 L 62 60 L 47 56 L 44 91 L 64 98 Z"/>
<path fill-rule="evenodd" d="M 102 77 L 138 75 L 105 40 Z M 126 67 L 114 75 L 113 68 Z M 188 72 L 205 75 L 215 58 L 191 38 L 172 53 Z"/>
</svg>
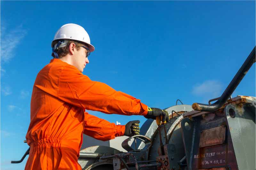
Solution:
<svg viewBox="0 0 256 170">
<path fill-rule="evenodd" d="M 7 31 L 1 26 L 1 62 L 7 63 L 14 56 L 14 49 L 26 35 L 26 31 L 21 26 Z"/>
</svg>

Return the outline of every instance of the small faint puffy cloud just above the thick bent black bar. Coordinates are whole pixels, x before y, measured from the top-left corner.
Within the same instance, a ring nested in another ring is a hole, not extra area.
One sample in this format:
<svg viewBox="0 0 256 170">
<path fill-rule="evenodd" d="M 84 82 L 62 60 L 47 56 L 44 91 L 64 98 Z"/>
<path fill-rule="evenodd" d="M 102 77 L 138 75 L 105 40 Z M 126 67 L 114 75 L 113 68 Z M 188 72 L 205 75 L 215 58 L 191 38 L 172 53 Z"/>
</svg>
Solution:
<svg viewBox="0 0 256 170">
<path fill-rule="evenodd" d="M 192 93 L 198 96 L 220 97 L 222 84 L 217 80 L 207 80 L 193 87 Z"/>
</svg>

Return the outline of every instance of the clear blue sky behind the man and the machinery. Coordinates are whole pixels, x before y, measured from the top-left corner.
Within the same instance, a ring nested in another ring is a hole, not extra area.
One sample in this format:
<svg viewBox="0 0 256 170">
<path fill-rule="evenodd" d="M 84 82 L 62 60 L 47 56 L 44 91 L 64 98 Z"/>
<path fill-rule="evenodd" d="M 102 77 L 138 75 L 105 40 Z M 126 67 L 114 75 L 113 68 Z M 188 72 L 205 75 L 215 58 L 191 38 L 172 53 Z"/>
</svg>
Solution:
<svg viewBox="0 0 256 170">
<path fill-rule="evenodd" d="M 83 26 L 95 47 L 83 73 L 149 107 L 219 97 L 255 46 L 255 1 L 1 1 L 1 169 L 25 167 L 27 158 L 10 161 L 28 149 L 32 87 L 67 23 Z M 236 95 L 255 96 L 255 64 Z"/>
</svg>

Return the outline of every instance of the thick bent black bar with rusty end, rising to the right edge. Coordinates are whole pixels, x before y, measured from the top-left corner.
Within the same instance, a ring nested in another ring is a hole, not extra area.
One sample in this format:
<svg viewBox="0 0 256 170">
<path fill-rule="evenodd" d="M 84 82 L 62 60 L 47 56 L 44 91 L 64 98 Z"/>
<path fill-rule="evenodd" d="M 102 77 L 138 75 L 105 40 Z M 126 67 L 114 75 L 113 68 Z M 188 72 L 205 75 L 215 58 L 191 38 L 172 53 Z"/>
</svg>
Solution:
<svg viewBox="0 0 256 170">
<path fill-rule="evenodd" d="M 202 104 L 202 103 L 194 103 L 192 105 L 192 108 L 194 110 L 204 111 L 204 112 L 213 112 L 213 111 L 219 109 L 221 106 L 223 106 L 223 104 L 228 100 L 228 98 L 234 92 L 237 85 L 239 85 L 239 83 L 244 78 L 245 74 L 251 68 L 253 63 L 255 63 L 255 47 L 253 48 L 252 52 L 245 60 L 244 64 L 237 71 L 235 77 L 229 83 L 226 90 L 222 93 L 219 100 L 217 100 L 215 103 L 213 103 L 211 105 Z"/>
</svg>

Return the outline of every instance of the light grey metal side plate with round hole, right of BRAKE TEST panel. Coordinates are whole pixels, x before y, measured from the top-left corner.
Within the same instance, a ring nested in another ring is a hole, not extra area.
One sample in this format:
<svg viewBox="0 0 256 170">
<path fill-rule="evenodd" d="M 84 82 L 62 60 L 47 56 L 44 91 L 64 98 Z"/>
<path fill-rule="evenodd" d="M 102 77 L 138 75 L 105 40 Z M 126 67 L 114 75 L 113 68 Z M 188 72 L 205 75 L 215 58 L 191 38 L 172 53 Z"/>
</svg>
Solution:
<svg viewBox="0 0 256 170">
<path fill-rule="evenodd" d="M 238 168 L 255 169 L 255 98 L 250 105 L 225 107 Z M 229 111 L 235 111 L 234 116 Z M 232 118 L 233 117 L 233 118 Z"/>
</svg>

